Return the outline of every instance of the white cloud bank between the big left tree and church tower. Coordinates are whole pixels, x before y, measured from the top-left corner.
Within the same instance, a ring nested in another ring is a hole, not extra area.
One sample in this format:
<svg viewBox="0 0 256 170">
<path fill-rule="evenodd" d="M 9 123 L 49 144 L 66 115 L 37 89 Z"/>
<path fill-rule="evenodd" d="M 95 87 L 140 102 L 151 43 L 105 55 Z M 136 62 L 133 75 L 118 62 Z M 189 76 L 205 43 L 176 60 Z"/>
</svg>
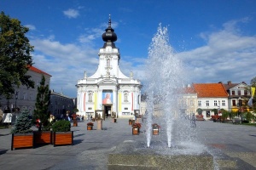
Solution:
<svg viewBox="0 0 256 170">
<path fill-rule="evenodd" d="M 75 44 L 61 44 L 50 39 L 34 39 L 33 62 L 38 69 L 46 71 L 51 77 L 50 88 L 76 97 L 75 84 L 83 78 L 84 71 L 92 75 L 98 65 L 98 49 Z"/>
</svg>

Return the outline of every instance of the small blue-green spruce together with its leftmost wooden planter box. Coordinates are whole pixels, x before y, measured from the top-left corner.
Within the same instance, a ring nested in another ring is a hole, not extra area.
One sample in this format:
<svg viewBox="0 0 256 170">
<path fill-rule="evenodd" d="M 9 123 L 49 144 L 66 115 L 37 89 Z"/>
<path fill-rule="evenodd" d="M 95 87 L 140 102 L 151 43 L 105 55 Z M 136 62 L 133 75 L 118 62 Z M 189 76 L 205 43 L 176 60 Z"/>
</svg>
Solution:
<svg viewBox="0 0 256 170">
<path fill-rule="evenodd" d="M 11 150 L 14 148 L 34 147 L 33 133 L 32 133 L 32 116 L 28 111 L 22 111 L 15 123 L 15 127 L 11 130 L 12 144 Z"/>
</svg>

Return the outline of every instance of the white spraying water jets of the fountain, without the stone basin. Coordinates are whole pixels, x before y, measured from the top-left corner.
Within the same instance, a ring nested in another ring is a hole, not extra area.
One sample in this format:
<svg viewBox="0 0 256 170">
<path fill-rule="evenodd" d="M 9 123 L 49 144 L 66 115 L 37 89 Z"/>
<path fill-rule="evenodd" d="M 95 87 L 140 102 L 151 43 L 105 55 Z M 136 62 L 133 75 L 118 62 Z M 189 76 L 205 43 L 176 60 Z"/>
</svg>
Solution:
<svg viewBox="0 0 256 170">
<path fill-rule="evenodd" d="M 173 53 L 173 49 L 169 44 L 167 28 L 158 28 L 157 33 L 152 38 L 152 42 L 148 48 L 147 83 L 146 93 L 148 94 L 148 119 L 147 119 L 147 147 L 151 141 L 151 124 L 154 113 L 154 107 L 160 109 L 156 115 L 160 122 L 166 122 L 167 144 L 172 146 L 172 124 L 173 119 L 180 118 L 177 104 L 180 102 L 179 89 L 183 87 L 187 78 L 183 63 Z M 180 121 L 179 123 L 183 123 Z M 186 127 L 186 126 L 182 126 Z M 189 129 L 181 129 L 180 131 L 188 131 Z"/>
</svg>

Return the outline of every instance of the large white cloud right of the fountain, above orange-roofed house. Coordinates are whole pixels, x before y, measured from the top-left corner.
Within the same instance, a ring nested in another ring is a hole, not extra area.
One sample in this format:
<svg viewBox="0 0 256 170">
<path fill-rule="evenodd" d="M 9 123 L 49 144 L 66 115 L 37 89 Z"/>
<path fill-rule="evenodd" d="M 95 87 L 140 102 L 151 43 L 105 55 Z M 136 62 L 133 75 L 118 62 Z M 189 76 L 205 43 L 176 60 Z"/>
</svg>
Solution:
<svg viewBox="0 0 256 170">
<path fill-rule="evenodd" d="M 189 65 L 193 82 L 247 82 L 256 72 L 256 37 L 241 34 L 238 24 L 232 20 L 224 28 L 211 33 L 201 33 L 207 45 L 180 53 Z"/>
</svg>

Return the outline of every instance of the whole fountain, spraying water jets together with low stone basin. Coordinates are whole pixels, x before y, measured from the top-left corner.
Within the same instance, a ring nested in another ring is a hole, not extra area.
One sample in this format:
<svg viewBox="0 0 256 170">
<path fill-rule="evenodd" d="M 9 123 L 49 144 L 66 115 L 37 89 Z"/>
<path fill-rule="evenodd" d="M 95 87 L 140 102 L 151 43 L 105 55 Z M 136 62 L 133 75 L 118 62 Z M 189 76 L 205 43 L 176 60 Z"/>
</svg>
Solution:
<svg viewBox="0 0 256 170">
<path fill-rule="evenodd" d="M 196 141 L 196 128 L 180 112 L 180 90 L 188 78 L 166 27 L 160 25 L 152 38 L 146 68 L 146 144 L 143 138 L 120 144 L 108 156 L 108 169 L 218 169 L 207 147 Z M 160 123 L 160 135 L 152 135 L 153 123 Z"/>
</svg>

